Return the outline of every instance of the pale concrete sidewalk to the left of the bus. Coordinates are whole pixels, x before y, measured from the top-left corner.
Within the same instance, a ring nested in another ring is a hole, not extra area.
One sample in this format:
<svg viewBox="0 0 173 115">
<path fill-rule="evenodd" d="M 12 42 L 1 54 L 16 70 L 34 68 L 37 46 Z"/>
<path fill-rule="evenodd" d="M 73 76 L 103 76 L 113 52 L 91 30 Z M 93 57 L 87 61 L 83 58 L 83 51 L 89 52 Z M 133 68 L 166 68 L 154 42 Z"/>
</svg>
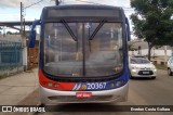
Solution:
<svg viewBox="0 0 173 115">
<path fill-rule="evenodd" d="M 0 79 L 0 105 L 17 105 L 38 88 L 38 68 Z"/>
</svg>

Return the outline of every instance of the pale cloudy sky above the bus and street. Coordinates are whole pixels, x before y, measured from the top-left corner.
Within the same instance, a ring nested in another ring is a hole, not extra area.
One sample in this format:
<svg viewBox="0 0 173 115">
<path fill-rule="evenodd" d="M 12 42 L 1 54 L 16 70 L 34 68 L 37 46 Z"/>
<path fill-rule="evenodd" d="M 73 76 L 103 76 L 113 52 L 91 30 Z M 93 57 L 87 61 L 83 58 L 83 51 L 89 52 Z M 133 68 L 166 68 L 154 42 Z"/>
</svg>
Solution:
<svg viewBox="0 0 173 115">
<path fill-rule="evenodd" d="M 40 18 L 41 10 L 43 7 L 55 4 L 54 0 L 42 0 L 41 2 L 39 1 L 41 0 L 0 0 L 0 22 L 21 21 L 21 2 L 23 2 L 24 8 L 26 8 L 24 10 L 25 21 Z M 62 0 L 62 4 L 85 4 L 86 2 L 122 7 L 124 8 L 124 12 L 128 17 L 133 13 L 133 10 L 129 9 L 131 8 L 130 0 Z M 29 7 L 34 3 L 37 4 Z"/>
</svg>

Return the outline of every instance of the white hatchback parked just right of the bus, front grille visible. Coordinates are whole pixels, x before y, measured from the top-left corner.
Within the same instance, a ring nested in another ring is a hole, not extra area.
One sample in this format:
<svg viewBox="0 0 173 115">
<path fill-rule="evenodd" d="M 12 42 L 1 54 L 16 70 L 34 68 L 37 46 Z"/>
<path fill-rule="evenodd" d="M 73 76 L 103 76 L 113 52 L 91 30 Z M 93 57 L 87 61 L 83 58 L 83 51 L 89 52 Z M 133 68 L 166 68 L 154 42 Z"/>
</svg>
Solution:
<svg viewBox="0 0 173 115">
<path fill-rule="evenodd" d="M 130 69 L 130 78 L 133 77 L 149 77 L 156 78 L 157 76 L 157 68 L 146 58 L 130 58 L 129 61 L 129 69 Z"/>
</svg>

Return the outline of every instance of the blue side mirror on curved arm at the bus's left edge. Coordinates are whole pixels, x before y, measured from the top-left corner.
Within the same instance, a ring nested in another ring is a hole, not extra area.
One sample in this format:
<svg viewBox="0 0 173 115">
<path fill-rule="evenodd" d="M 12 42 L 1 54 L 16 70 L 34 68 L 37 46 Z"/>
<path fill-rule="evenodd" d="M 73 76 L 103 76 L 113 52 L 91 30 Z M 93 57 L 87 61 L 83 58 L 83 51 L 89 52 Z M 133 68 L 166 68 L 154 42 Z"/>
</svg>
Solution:
<svg viewBox="0 0 173 115">
<path fill-rule="evenodd" d="M 37 20 L 32 23 L 31 31 L 29 34 L 29 40 L 28 40 L 28 47 L 35 48 L 35 41 L 36 41 L 36 26 L 40 25 L 40 20 Z"/>
</svg>

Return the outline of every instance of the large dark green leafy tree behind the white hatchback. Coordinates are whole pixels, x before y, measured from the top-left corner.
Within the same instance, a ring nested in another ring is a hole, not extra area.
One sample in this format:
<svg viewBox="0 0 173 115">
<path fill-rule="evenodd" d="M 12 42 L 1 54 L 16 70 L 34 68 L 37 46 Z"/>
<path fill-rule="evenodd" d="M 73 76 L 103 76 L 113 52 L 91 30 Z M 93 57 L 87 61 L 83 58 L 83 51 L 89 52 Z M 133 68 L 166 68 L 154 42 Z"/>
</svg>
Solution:
<svg viewBox="0 0 173 115">
<path fill-rule="evenodd" d="M 148 59 L 154 46 L 173 46 L 173 0 L 131 0 L 133 30 L 148 42 Z"/>
</svg>

